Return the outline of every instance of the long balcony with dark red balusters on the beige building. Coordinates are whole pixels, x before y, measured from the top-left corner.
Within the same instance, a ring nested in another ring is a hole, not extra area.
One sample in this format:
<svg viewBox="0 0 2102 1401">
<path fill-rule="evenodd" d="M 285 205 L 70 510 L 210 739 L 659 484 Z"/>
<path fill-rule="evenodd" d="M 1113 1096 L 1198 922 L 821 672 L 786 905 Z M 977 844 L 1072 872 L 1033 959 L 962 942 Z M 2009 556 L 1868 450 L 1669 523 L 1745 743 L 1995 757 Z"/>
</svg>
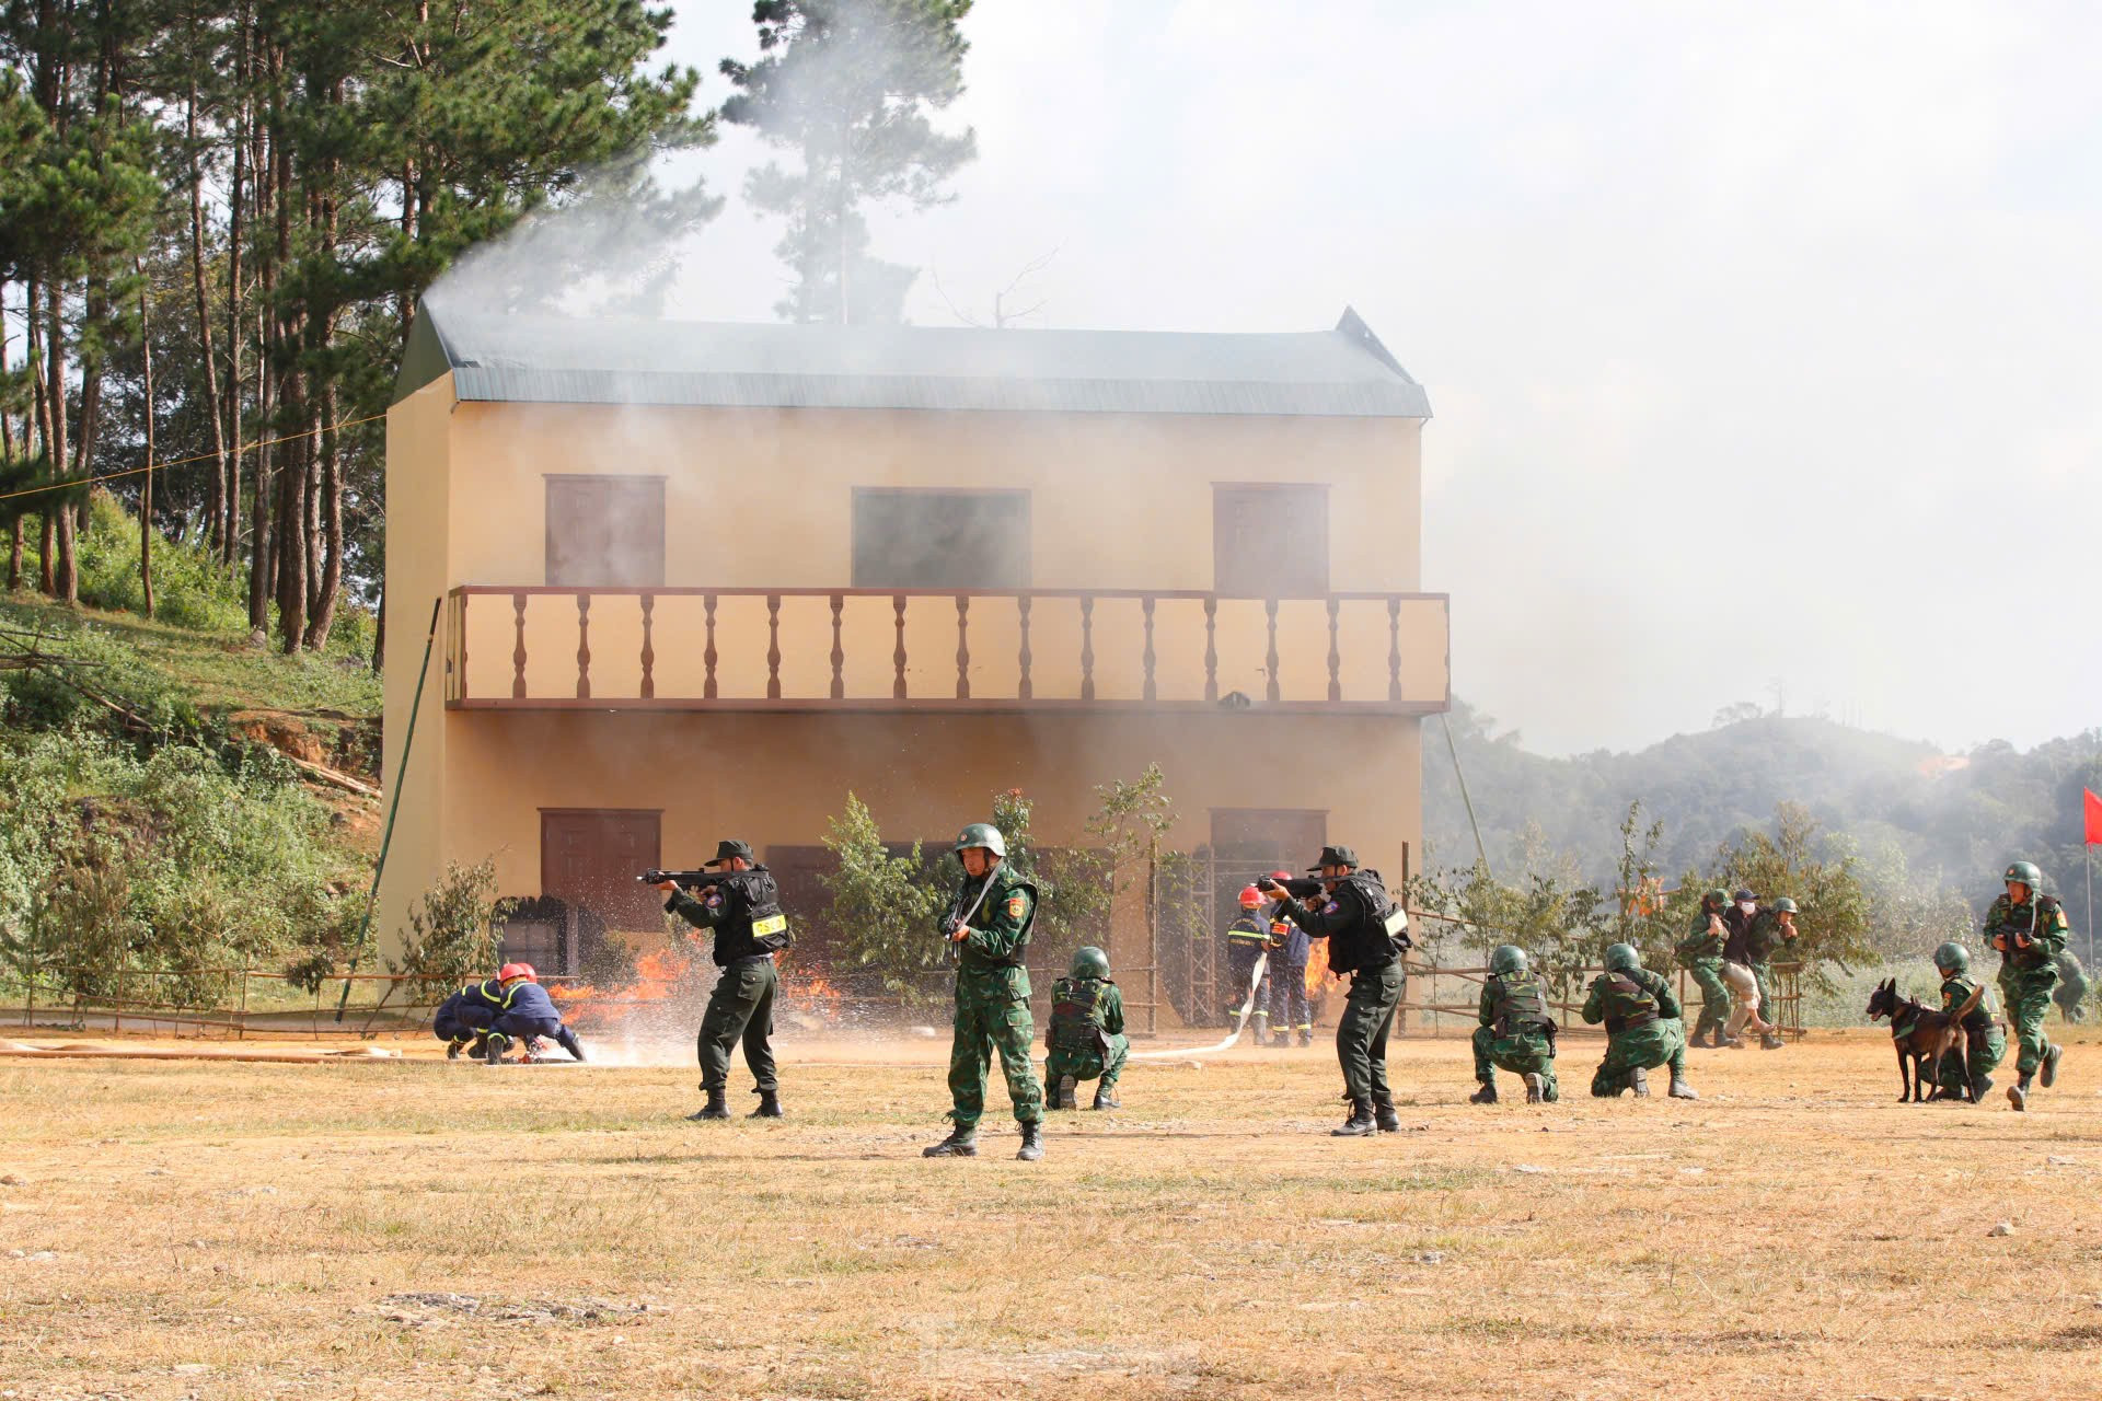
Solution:
<svg viewBox="0 0 2102 1401">
<path fill-rule="evenodd" d="M 452 710 L 1436 714 L 1446 594 L 454 588 Z"/>
</svg>

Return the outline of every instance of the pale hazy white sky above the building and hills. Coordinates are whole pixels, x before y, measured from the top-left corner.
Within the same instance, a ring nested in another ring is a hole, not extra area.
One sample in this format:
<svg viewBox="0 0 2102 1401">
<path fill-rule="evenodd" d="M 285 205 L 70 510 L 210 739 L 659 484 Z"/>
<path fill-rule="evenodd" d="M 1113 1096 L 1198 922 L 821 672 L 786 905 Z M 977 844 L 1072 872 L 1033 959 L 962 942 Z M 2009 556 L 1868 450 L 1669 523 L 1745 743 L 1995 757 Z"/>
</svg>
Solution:
<svg viewBox="0 0 2102 1401">
<path fill-rule="evenodd" d="M 673 57 L 755 48 L 679 6 Z M 2102 725 L 2102 6 L 980 0 L 956 202 L 874 252 L 1040 326 L 1318 330 L 1431 395 L 1425 588 L 1528 746 L 1753 699 Z M 757 143 L 673 311 L 769 319 Z M 921 275 L 914 321 L 954 323 Z M 1780 687 L 1776 691 L 1776 687 Z"/>
</svg>

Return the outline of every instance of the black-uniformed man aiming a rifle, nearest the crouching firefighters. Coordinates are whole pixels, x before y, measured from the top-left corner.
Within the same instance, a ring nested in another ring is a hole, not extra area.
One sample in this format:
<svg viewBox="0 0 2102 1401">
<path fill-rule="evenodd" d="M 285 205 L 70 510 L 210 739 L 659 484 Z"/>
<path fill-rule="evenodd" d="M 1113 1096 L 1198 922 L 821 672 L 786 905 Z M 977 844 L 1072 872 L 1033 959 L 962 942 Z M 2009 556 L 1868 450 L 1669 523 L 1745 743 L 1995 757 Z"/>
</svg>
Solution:
<svg viewBox="0 0 2102 1401">
<path fill-rule="evenodd" d="M 780 989 L 774 954 L 790 943 L 780 886 L 774 884 L 774 874 L 753 859 L 753 849 L 738 840 L 717 842 L 708 870 L 719 874 L 700 886 L 700 899 L 673 880 L 658 884 L 658 891 L 671 895 L 664 901 L 666 914 L 677 914 L 694 928 L 715 930 L 713 954 L 715 966 L 721 968 L 696 1038 L 700 1092 L 708 1103 L 687 1117 L 729 1117 L 729 1105 L 723 1103 L 729 1086 L 729 1048 L 742 1038 L 744 1065 L 753 1071 L 759 1092 L 759 1109 L 750 1117 L 778 1120 L 782 1101 L 769 1040 L 774 994 Z"/>
</svg>

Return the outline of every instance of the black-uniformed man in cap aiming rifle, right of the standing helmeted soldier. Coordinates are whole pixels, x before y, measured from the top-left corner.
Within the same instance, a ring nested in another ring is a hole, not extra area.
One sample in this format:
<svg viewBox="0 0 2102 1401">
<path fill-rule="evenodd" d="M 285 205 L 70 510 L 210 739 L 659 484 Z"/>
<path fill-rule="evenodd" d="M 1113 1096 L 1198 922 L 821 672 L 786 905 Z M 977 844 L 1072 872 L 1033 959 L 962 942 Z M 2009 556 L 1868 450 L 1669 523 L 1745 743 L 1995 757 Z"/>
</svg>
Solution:
<svg viewBox="0 0 2102 1401">
<path fill-rule="evenodd" d="M 1318 874 L 1318 880 L 1280 882 L 1259 876 L 1255 884 L 1280 895 L 1278 912 L 1303 928 L 1307 939 L 1328 941 L 1331 973 L 1349 975 L 1349 998 L 1335 1027 L 1349 1117 L 1335 1136 L 1400 1132 L 1394 1090 L 1387 1086 L 1387 1031 L 1394 1029 L 1394 1008 L 1406 985 L 1402 949 L 1415 947 L 1408 916 L 1387 897 L 1379 872 L 1358 870 L 1358 853 L 1349 846 L 1322 846 L 1320 861 L 1307 874 Z"/>
</svg>

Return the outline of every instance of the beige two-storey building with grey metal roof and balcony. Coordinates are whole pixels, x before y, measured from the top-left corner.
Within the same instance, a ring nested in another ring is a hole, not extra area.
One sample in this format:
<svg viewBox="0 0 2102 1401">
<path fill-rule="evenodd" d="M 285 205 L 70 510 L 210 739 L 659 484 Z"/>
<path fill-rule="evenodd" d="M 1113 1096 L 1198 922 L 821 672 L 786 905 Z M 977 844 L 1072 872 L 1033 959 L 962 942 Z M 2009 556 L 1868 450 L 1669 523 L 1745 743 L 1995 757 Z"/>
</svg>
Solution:
<svg viewBox="0 0 2102 1401">
<path fill-rule="evenodd" d="M 717 836 L 809 903 L 849 790 L 946 840 L 1024 788 L 1038 840 L 1083 842 L 1093 788 L 1154 760 L 1225 901 L 1324 840 L 1392 878 L 1450 695 L 1427 416 L 1349 311 L 1146 334 L 427 307 L 387 418 L 389 781 L 412 628 L 444 607 L 383 939 L 492 855 L 504 895 L 654 930 L 635 872 Z"/>
</svg>

